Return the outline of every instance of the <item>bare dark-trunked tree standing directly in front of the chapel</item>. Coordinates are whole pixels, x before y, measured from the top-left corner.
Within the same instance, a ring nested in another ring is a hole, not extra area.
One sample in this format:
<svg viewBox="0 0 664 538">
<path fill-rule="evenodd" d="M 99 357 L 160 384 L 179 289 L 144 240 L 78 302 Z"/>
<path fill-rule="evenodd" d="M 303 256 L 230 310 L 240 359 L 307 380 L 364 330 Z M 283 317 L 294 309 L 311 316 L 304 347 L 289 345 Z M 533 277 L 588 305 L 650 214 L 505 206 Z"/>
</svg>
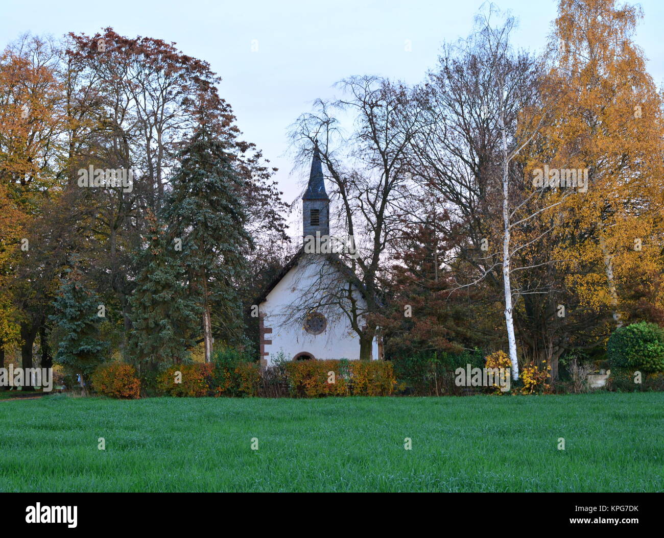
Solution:
<svg viewBox="0 0 664 538">
<path fill-rule="evenodd" d="M 326 267 L 336 267 L 333 271 L 344 282 L 329 275 L 316 279 L 312 285 L 316 289 L 309 289 L 292 308 L 296 317 L 314 306 L 339 308 L 359 336 L 360 357 L 369 359 L 377 328 L 374 317 L 382 304 L 382 271 L 404 222 L 413 185 L 406 162 L 410 127 L 404 125 L 408 117 L 402 113 L 408 92 L 400 84 L 373 76 L 349 78 L 338 86 L 347 97 L 331 103 L 316 101 L 317 111 L 297 119 L 291 139 L 299 163 L 310 162 L 317 141 L 335 207 L 333 235 L 353 237 L 357 253 L 329 257 L 334 265 Z M 344 135 L 335 114 L 353 117 L 350 135 Z"/>
</svg>

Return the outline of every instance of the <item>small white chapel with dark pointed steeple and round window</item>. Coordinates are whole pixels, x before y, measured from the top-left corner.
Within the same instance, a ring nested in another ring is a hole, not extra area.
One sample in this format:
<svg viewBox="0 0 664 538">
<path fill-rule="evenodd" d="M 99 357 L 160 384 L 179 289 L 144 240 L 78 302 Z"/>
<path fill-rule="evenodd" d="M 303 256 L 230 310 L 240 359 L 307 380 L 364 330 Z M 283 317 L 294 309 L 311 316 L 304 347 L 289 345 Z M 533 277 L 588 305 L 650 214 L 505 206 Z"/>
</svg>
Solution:
<svg viewBox="0 0 664 538">
<path fill-rule="evenodd" d="M 302 196 L 302 233 L 330 234 L 330 199 L 318 146 L 313 150 L 309 184 Z M 359 360 L 366 301 L 361 282 L 336 253 L 311 253 L 301 247 L 258 299 L 260 362 L 286 360 Z M 380 346 L 382 348 L 382 346 Z M 371 358 L 379 358 L 378 339 Z"/>
</svg>

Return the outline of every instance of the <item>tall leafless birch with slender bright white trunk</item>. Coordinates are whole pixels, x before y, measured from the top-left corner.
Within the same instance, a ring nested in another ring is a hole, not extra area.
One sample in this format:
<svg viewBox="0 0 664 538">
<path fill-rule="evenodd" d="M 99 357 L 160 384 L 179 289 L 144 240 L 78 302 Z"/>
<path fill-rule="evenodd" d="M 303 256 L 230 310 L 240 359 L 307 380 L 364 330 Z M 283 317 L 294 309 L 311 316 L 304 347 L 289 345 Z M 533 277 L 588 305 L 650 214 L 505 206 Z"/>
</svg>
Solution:
<svg viewBox="0 0 664 538">
<path fill-rule="evenodd" d="M 513 279 L 517 271 L 553 260 L 515 256 L 530 253 L 552 230 L 544 216 L 571 190 L 533 186 L 525 176 L 524 150 L 537 138 L 555 96 L 540 91 L 546 58 L 513 51 L 509 36 L 515 20 L 507 17 L 495 27 L 494 14 L 491 8 L 478 15 L 475 33 L 446 48 L 440 70 L 415 90 L 414 107 L 421 111 L 410 155 L 414 177 L 442 194 L 452 217 L 447 233 L 465 229 L 467 234 L 455 263 L 474 271 L 459 275 L 457 288 L 488 279 L 501 289 L 517 379 L 516 304 L 525 295 L 550 293 L 551 283 L 519 281 L 515 287 Z"/>
</svg>

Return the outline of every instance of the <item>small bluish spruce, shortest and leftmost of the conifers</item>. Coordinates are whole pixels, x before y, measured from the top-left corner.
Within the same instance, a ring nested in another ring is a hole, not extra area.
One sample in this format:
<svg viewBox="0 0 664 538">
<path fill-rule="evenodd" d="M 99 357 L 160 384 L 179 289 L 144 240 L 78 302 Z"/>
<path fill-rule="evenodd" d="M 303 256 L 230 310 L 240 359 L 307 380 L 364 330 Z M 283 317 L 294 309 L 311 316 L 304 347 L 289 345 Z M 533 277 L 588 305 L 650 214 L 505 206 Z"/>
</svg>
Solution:
<svg viewBox="0 0 664 538">
<path fill-rule="evenodd" d="M 90 375 L 108 358 L 108 342 L 100 338 L 100 299 L 83 282 L 77 267 L 70 269 L 53 301 L 59 346 L 55 362 L 69 375 L 80 375 L 83 394 L 88 394 Z"/>
</svg>

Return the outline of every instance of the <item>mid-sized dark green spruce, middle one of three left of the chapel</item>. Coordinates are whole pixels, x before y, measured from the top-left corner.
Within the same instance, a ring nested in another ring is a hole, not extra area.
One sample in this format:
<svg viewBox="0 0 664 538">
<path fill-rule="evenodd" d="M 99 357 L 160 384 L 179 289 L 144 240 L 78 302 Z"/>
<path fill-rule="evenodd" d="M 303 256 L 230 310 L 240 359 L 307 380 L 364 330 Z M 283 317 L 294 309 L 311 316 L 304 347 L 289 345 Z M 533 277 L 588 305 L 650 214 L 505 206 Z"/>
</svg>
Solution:
<svg viewBox="0 0 664 538">
<path fill-rule="evenodd" d="M 179 364 L 195 345 L 200 309 L 189 296 L 185 273 L 164 226 L 147 213 L 147 247 L 136 256 L 141 269 L 131 299 L 129 349 L 141 377 Z"/>
</svg>

